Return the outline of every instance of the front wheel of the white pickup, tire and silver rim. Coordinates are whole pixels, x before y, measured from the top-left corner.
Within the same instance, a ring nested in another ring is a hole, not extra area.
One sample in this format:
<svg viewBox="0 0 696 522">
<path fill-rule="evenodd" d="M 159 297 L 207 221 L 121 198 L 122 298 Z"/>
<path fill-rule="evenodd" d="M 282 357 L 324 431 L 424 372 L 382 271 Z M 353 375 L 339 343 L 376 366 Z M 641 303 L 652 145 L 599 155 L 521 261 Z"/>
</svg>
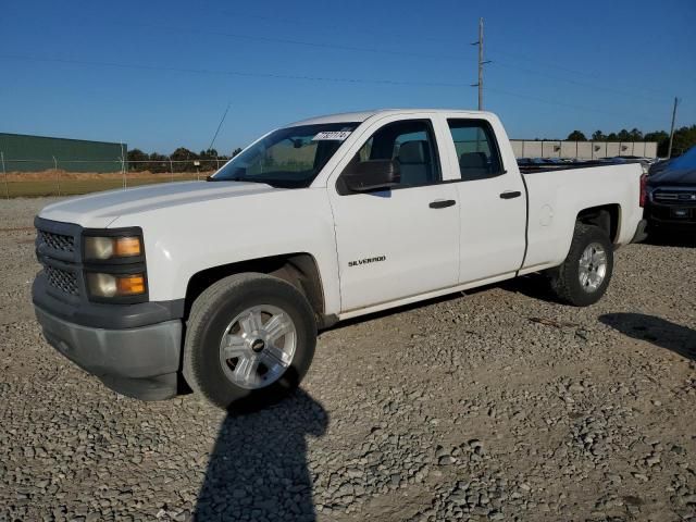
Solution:
<svg viewBox="0 0 696 522">
<path fill-rule="evenodd" d="M 278 332 L 286 333 L 272 339 Z M 194 391 L 220 408 L 252 411 L 277 402 L 299 385 L 315 345 L 314 313 L 297 288 L 264 274 L 235 274 L 194 301 L 186 325 L 184 377 Z"/>
</svg>

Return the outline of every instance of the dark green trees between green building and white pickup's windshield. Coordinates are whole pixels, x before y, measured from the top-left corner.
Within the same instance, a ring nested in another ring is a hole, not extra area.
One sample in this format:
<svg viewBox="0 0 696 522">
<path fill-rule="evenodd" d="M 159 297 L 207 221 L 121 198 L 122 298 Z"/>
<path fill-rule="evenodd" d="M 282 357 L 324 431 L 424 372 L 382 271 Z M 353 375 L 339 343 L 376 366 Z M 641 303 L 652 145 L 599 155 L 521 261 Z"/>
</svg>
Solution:
<svg viewBox="0 0 696 522">
<path fill-rule="evenodd" d="M 241 149 L 232 151 L 231 156 L 219 154 L 215 149 L 201 150 L 196 153 L 185 147 L 177 148 L 170 156 L 158 152 L 147 153 L 140 149 L 128 151 L 128 170 L 132 172 L 208 172 L 222 166 L 227 160 L 234 158 Z M 170 163 L 170 159 L 172 160 Z M 196 164 L 198 163 L 198 164 Z"/>
</svg>

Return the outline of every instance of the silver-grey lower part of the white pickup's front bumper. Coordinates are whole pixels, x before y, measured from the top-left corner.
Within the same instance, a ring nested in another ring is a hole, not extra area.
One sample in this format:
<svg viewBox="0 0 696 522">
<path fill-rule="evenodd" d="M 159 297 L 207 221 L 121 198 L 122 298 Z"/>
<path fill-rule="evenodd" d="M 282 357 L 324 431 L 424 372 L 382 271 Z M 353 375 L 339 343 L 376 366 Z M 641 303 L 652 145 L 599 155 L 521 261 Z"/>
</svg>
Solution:
<svg viewBox="0 0 696 522">
<path fill-rule="evenodd" d="M 177 394 L 181 320 L 108 330 L 82 326 L 34 308 L 48 343 L 111 389 L 141 400 Z"/>
</svg>

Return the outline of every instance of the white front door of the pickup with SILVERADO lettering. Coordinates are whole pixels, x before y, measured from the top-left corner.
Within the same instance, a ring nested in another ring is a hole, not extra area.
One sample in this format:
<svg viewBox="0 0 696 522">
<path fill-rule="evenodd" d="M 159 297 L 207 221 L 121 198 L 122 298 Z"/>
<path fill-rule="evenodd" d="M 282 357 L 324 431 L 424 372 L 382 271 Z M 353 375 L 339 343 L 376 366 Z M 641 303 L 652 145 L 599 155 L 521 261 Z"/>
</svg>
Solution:
<svg viewBox="0 0 696 522">
<path fill-rule="evenodd" d="M 442 129 L 439 130 L 442 133 Z M 455 184 L 443 183 L 447 160 L 430 117 L 389 116 L 373 124 L 348 151 L 328 184 L 339 260 L 343 312 L 457 284 L 459 206 Z M 350 192 L 348 163 L 393 160 L 398 187 Z"/>
</svg>

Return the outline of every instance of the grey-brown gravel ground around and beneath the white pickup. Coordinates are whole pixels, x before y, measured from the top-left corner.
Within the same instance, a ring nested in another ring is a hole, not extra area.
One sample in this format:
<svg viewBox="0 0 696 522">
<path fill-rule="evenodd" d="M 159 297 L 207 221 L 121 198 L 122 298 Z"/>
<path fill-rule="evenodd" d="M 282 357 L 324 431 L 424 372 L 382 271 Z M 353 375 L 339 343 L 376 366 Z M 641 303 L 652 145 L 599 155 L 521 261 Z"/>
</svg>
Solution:
<svg viewBox="0 0 696 522">
<path fill-rule="evenodd" d="M 44 341 L 49 201 L 0 202 L 0 520 L 696 521 L 696 248 L 621 249 L 586 309 L 526 277 L 351 321 L 300 393 L 226 418 Z"/>
</svg>

